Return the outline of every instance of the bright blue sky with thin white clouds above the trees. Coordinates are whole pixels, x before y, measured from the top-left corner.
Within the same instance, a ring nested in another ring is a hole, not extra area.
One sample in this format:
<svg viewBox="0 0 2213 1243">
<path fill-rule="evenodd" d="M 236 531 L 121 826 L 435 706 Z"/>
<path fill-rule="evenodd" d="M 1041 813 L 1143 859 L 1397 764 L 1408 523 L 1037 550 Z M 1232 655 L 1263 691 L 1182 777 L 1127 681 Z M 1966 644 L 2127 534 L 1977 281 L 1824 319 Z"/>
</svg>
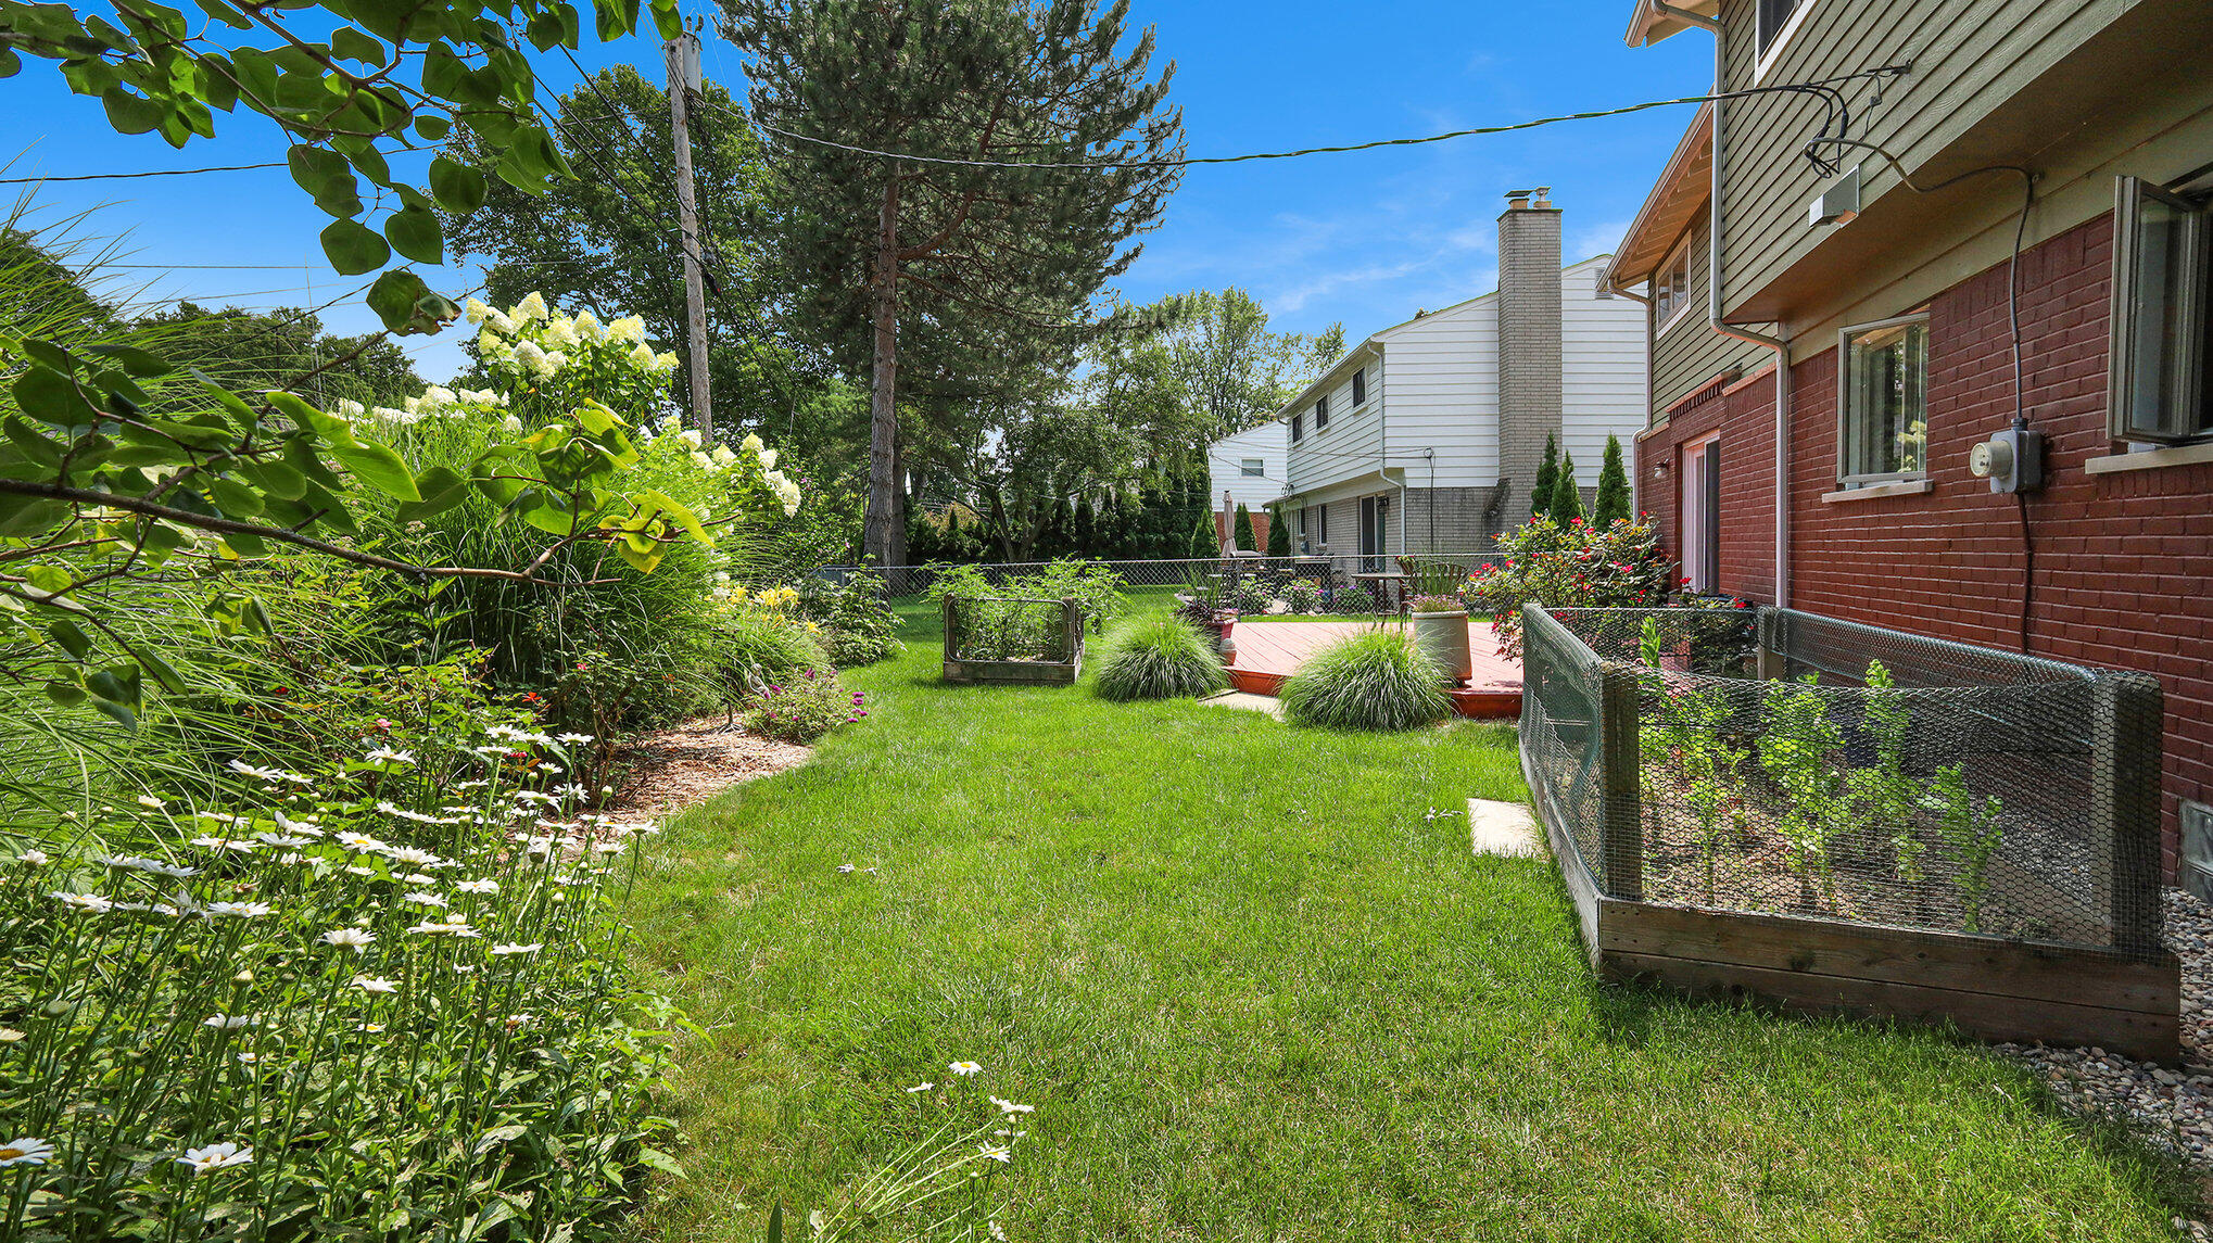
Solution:
<svg viewBox="0 0 2213 1243">
<path fill-rule="evenodd" d="M 1627 0 L 1354 9 L 1135 0 L 1133 18 L 1155 24 L 1160 58 L 1177 62 L 1171 100 L 1184 108 L 1191 155 L 1407 137 L 1695 95 L 1713 73 L 1706 35 L 1622 46 Z M 589 69 L 628 60 L 659 75 L 659 44 L 648 40 L 586 46 L 580 60 Z M 737 82 L 737 49 L 708 38 L 704 60 L 710 77 Z M 575 84 L 558 55 L 538 66 L 553 91 Z M 115 135 L 97 100 L 71 95 L 51 64 L 35 60 L 0 82 L 0 115 L 11 139 L 0 159 L 13 157 L 7 177 L 283 159 L 274 126 L 243 113 L 219 115 L 217 139 L 184 150 L 150 135 Z M 1653 108 L 1419 148 L 1199 166 L 1120 288 L 1151 301 L 1241 285 L 1277 330 L 1319 332 L 1341 321 L 1359 338 L 1416 307 L 1494 285 L 1494 219 L 1505 190 L 1554 188 L 1567 212 L 1569 261 L 1611 250 L 1689 119 L 1689 106 Z M 328 217 L 281 168 L 51 184 L 38 203 L 49 217 L 102 208 L 84 228 L 117 239 L 131 252 L 126 263 L 148 265 L 124 272 L 146 299 L 314 305 L 361 283 L 323 263 L 316 232 Z M 474 268 L 449 265 L 440 288 L 474 283 Z M 339 332 L 372 325 L 359 299 L 325 321 Z M 432 380 L 460 365 L 451 334 L 403 345 Z"/>
</svg>

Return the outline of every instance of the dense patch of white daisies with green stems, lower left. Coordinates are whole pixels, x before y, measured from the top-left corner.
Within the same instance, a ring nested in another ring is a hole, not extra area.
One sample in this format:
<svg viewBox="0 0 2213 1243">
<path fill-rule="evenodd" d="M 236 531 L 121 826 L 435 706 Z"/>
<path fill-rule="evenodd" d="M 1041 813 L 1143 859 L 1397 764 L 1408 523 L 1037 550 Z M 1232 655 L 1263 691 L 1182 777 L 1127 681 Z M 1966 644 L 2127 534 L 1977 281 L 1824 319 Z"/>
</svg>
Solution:
<svg viewBox="0 0 2213 1243">
<path fill-rule="evenodd" d="M 0 1236 L 604 1236 L 675 1015 L 582 734 L 394 734 L 0 860 Z M 100 847 L 100 843 L 108 843 Z"/>
</svg>

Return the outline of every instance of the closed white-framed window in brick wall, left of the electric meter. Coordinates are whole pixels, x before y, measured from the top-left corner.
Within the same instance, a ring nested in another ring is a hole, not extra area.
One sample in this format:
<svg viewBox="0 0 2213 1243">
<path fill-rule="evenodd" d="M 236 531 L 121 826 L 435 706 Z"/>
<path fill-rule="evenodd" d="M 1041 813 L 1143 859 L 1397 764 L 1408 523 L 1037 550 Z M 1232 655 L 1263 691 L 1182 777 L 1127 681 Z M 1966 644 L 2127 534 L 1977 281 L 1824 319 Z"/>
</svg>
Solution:
<svg viewBox="0 0 2213 1243">
<path fill-rule="evenodd" d="M 1930 321 L 1846 327 L 1837 343 L 1837 480 L 1919 480 L 1928 460 Z"/>
</svg>

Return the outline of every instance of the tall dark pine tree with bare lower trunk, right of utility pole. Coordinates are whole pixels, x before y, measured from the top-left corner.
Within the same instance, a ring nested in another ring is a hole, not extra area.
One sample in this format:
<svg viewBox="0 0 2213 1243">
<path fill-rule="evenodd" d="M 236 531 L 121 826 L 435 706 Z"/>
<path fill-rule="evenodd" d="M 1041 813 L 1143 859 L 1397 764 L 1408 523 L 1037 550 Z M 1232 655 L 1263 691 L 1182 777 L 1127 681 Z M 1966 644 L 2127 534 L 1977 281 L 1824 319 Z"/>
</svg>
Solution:
<svg viewBox="0 0 2213 1243">
<path fill-rule="evenodd" d="M 1164 106 L 1173 64 L 1146 80 L 1153 31 L 1126 38 L 1126 2 L 721 9 L 752 55 L 752 122 L 779 146 L 779 243 L 814 285 L 801 321 L 870 358 L 863 546 L 885 557 L 903 502 L 901 323 L 967 338 L 991 365 L 1073 349 L 1069 323 L 1137 257 L 1129 241 L 1180 177 L 1162 164 L 1184 150 L 1182 113 Z"/>
</svg>

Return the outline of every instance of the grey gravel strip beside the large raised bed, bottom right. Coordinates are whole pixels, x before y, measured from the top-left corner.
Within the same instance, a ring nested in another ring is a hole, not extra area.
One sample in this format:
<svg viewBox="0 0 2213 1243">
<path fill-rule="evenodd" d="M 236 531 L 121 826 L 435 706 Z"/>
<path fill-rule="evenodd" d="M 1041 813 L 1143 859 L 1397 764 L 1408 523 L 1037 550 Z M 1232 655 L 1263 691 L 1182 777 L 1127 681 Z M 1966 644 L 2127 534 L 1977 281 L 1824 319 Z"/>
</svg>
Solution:
<svg viewBox="0 0 2213 1243">
<path fill-rule="evenodd" d="M 2069 1108 L 2120 1121 L 2213 1174 L 2213 907 L 2167 889 L 2167 947 L 2182 960 L 2182 1066 L 2136 1062 L 2105 1048 L 1998 1044 L 2023 1062 Z M 2180 1223 L 2193 1239 L 2213 1239 L 2200 1223 Z"/>
</svg>

